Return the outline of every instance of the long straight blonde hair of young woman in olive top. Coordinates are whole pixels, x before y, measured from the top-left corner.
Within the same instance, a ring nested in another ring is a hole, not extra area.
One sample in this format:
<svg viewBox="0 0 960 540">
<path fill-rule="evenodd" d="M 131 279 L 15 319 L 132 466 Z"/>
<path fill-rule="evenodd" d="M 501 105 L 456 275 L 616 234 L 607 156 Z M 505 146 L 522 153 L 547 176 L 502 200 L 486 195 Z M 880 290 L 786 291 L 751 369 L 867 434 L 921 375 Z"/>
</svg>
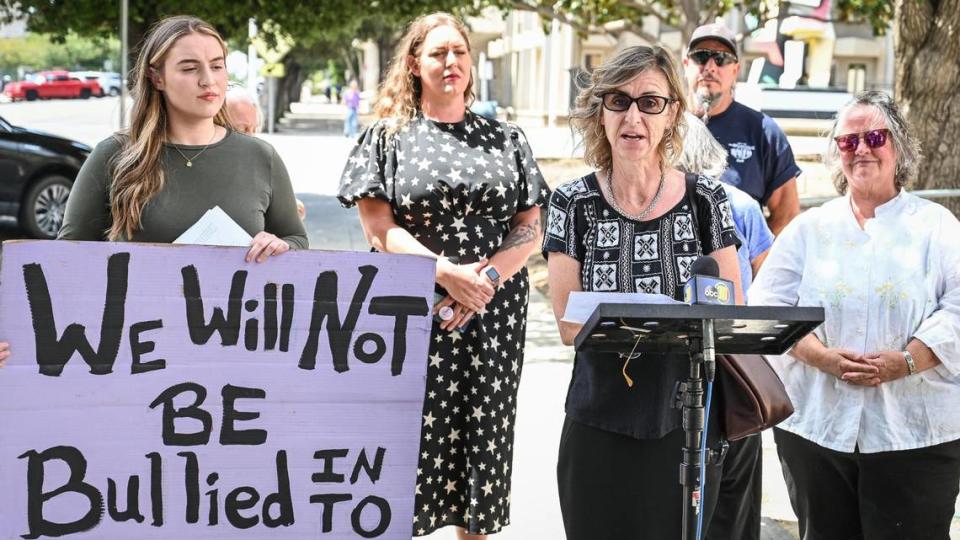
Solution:
<svg viewBox="0 0 960 540">
<path fill-rule="evenodd" d="M 213 26 L 186 15 L 159 21 L 150 29 L 140 47 L 137 63 L 131 74 L 133 108 L 130 128 L 121 133 L 120 152 L 111 160 L 112 223 L 107 231 L 107 238 L 110 240 L 131 238 L 140 228 L 144 207 L 163 189 L 161 157 L 169 116 L 162 93 L 154 87 L 150 79 L 151 70 L 162 69 L 164 57 L 173 44 L 192 33 L 215 37 L 226 57 L 227 44 Z M 217 125 L 229 127 L 225 106 L 226 100 L 213 121 Z"/>
</svg>

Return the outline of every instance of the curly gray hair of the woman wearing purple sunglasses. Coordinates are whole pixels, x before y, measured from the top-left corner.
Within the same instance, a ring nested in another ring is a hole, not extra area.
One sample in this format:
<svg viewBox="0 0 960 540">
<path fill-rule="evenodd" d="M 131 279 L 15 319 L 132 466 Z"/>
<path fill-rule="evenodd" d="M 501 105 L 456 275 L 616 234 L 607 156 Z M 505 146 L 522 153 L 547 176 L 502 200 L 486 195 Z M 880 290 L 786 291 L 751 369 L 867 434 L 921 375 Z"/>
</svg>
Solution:
<svg viewBox="0 0 960 540">
<path fill-rule="evenodd" d="M 920 170 L 920 162 L 923 160 L 920 141 L 914 136 L 910 123 L 907 122 L 907 119 L 900 112 L 900 107 L 897 106 L 897 103 L 889 94 L 867 90 L 860 92 L 840 108 L 833 122 L 833 127 L 830 129 L 827 151 L 823 154 L 823 162 L 833 179 L 833 185 L 837 188 L 837 193 L 843 195 L 847 192 L 847 178 L 843 175 L 843 169 L 840 167 L 840 149 L 837 148 L 837 142 L 833 138 L 839 135 L 837 128 L 840 126 L 840 120 L 850 112 L 850 109 L 858 106 L 873 107 L 883 118 L 887 129 L 890 131 L 890 139 L 893 141 L 893 150 L 897 157 L 893 185 L 897 190 L 907 186 L 911 180 L 916 178 Z"/>
</svg>

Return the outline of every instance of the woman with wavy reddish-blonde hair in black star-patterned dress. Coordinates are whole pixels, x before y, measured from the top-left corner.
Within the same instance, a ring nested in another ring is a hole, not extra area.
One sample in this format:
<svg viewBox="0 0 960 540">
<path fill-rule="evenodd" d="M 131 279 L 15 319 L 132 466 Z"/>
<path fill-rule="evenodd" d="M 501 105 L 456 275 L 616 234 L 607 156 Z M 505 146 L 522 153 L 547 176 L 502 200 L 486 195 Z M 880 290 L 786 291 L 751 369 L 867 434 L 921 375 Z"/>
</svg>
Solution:
<svg viewBox="0 0 960 540">
<path fill-rule="evenodd" d="M 414 21 L 381 89 L 380 120 L 340 184 L 375 249 L 437 259 L 417 536 L 454 525 L 482 538 L 510 522 L 524 263 L 549 197 L 523 133 L 467 110 L 470 74 L 461 22 L 443 13 Z"/>
</svg>

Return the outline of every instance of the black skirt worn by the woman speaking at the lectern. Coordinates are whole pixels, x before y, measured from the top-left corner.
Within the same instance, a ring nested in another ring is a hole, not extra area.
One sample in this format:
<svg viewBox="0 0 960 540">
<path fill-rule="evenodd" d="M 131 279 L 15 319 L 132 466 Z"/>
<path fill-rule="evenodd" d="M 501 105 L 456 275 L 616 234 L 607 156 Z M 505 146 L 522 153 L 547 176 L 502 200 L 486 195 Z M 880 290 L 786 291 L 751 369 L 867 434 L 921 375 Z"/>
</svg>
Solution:
<svg viewBox="0 0 960 540">
<path fill-rule="evenodd" d="M 557 463 L 567 540 L 679 539 L 682 447 L 680 429 L 659 439 L 635 439 L 568 417 Z M 707 465 L 704 535 L 716 506 L 719 472 L 718 464 Z"/>
</svg>

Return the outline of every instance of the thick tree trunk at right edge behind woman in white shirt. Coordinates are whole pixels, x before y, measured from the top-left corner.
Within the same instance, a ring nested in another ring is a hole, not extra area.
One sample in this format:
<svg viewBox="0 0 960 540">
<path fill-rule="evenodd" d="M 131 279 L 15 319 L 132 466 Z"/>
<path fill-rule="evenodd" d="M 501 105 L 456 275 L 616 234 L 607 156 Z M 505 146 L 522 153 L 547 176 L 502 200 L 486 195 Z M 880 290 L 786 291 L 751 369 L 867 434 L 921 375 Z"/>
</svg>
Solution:
<svg viewBox="0 0 960 540">
<path fill-rule="evenodd" d="M 920 140 L 912 189 L 960 188 L 960 0 L 897 2 L 896 96 Z M 960 197 L 938 201 L 960 216 Z"/>
</svg>

